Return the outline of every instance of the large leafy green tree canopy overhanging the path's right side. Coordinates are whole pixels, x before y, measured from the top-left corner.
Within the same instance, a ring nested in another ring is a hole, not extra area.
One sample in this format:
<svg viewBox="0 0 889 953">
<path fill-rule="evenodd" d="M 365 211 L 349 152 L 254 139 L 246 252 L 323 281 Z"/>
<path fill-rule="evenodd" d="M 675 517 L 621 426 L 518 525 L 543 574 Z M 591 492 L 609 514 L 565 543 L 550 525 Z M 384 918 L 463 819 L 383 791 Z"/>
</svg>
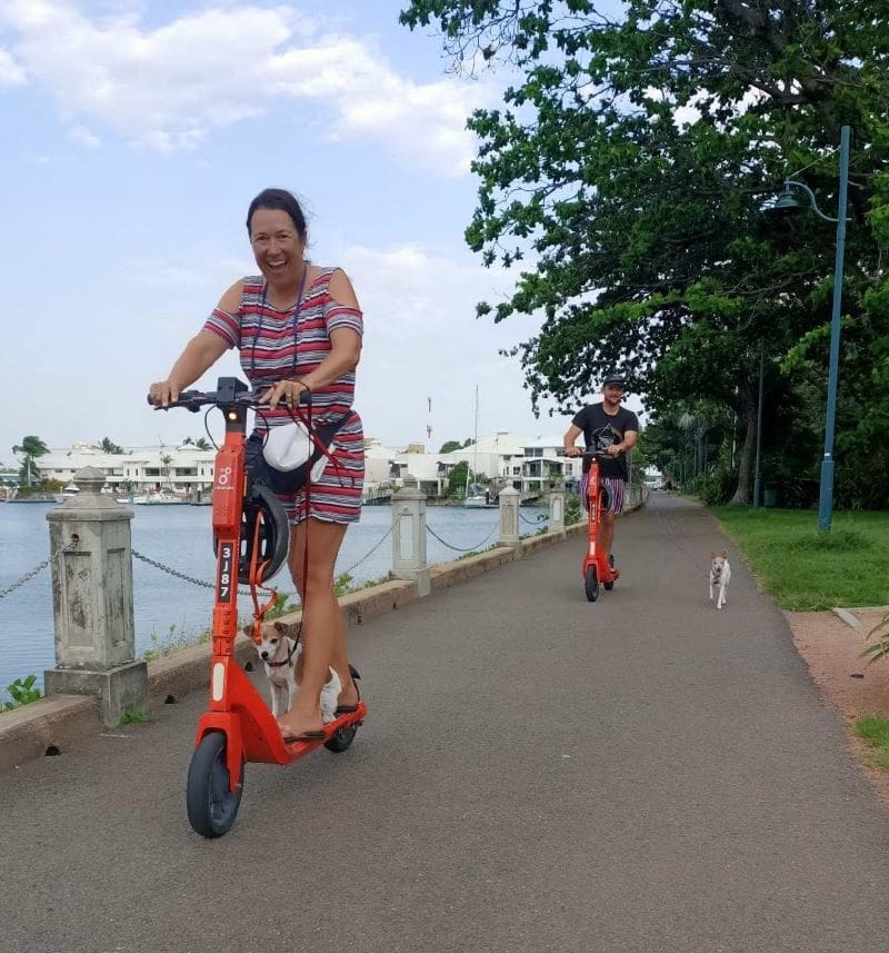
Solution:
<svg viewBox="0 0 889 953">
<path fill-rule="evenodd" d="M 836 231 L 763 210 L 793 177 L 836 216 L 849 125 L 838 456 L 852 434 L 887 436 L 885 0 L 628 0 L 619 19 L 588 0 L 414 0 L 401 19 L 437 22 L 458 68 L 506 60 L 520 76 L 469 119 L 466 235 L 518 272 L 479 315 L 542 316 L 516 350 L 532 403 L 567 413 L 612 368 L 656 410 L 717 401 L 746 435 L 741 497 L 760 348 L 768 400 L 800 415 L 827 377 Z"/>
</svg>

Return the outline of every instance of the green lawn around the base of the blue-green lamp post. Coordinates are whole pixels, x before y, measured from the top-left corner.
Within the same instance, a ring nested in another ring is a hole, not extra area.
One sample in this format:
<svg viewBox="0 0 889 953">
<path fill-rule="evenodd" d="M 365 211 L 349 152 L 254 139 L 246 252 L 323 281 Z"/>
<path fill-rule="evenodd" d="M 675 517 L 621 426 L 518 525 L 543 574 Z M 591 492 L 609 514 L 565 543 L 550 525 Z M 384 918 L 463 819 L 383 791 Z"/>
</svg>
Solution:
<svg viewBox="0 0 889 953">
<path fill-rule="evenodd" d="M 835 513 L 829 533 L 800 509 L 710 510 L 781 608 L 889 604 L 889 513 Z"/>
</svg>

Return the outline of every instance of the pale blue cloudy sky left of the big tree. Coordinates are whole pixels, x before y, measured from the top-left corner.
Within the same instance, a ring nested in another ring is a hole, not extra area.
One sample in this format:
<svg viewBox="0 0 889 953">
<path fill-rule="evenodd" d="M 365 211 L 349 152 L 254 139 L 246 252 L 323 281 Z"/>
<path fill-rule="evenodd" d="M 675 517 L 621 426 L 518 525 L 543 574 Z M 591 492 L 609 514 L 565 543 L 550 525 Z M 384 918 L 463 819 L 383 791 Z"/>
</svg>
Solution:
<svg viewBox="0 0 889 953">
<path fill-rule="evenodd" d="M 364 309 L 356 406 L 384 444 L 562 433 L 518 360 L 536 322 L 475 317 L 509 272 L 465 246 L 477 183 L 466 117 L 506 77 L 458 79 L 390 0 L 0 2 L 0 463 L 27 434 L 171 444 L 200 417 L 147 408 L 233 280 L 267 186 L 306 200 L 311 257 Z M 227 356 L 201 381 L 238 373 Z M 216 433 L 219 433 L 217 429 Z"/>
</svg>

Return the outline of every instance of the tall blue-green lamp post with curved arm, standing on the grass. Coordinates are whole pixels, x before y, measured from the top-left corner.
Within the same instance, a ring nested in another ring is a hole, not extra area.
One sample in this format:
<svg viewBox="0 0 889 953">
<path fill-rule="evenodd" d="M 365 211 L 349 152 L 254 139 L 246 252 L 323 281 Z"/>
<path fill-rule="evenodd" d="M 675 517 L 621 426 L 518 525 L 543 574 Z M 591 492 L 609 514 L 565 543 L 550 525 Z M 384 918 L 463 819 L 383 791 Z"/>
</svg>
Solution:
<svg viewBox="0 0 889 953">
<path fill-rule="evenodd" d="M 830 529 L 833 516 L 833 429 L 837 420 L 837 378 L 840 363 L 840 307 L 842 305 L 842 264 L 846 251 L 846 211 L 849 191 L 849 127 L 840 131 L 840 193 L 837 218 L 825 215 L 816 205 L 812 190 L 795 179 L 785 179 L 785 190 L 773 208 L 796 208 L 791 187 L 802 189 L 808 196 L 812 211 L 825 221 L 837 222 L 837 254 L 833 266 L 833 311 L 830 317 L 830 363 L 827 378 L 827 416 L 825 419 L 825 458 L 821 461 L 821 490 L 818 502 L 818 528 Z"/>
</svg>

